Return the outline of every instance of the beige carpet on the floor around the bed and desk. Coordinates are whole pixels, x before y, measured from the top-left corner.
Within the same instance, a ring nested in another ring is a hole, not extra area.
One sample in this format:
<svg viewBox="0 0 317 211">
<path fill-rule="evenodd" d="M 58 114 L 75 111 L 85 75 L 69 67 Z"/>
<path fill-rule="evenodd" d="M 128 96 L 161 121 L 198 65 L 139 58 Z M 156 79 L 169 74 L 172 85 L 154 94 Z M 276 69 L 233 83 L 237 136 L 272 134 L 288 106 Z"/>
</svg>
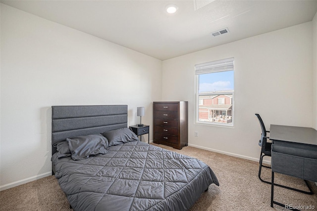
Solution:
<svg viewBox="0 0 317 211">
<path fill-rule="evenodd" d="M 156 145 L 156 144 L 155 144 Z M 281 211 L 282 207 L 270 207 L 270 185 L 258 178 L 257 162 L 239 159 L 194 147 L 182 150 L 164 145 L 162 148 L 195 157 L 215 172 L 220 186 L 211 184 L 208 192 L 190 211 Z M 260 154 L 260 153 L 259 153 Z M 308 190 L 301 179 L 275 174 L 276 182 Z M 270 180 L 270 169 L 263 168 L 263 178 Z M 293 206 L 315 206 L 317 210 L 317 186 L 310 182 L 314 195 L 275 187 L 274 200 Z M 190 197 L 190 196 L 188 196 Z M 48 176 L 27 184 L 0 192 L 0 211 L 71 211 L 66 196 L 54 176 Z"/>
</svg>

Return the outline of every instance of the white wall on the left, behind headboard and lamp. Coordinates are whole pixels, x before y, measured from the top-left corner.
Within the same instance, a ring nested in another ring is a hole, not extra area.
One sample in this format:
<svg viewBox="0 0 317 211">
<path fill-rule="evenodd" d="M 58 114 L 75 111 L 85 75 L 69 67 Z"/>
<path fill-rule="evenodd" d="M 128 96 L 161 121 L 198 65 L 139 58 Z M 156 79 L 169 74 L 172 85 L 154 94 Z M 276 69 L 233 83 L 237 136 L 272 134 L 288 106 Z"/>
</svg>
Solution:
<svg viewBox="0 0 317 211">
<path fill-rule="evenodd" d="M 127 104 L 128 125 L 145 106 L 152 125 L 162 61 L 5 4 L 0 20 L 2 190 L 51 174 L 52 105 Z"/>
</svg>

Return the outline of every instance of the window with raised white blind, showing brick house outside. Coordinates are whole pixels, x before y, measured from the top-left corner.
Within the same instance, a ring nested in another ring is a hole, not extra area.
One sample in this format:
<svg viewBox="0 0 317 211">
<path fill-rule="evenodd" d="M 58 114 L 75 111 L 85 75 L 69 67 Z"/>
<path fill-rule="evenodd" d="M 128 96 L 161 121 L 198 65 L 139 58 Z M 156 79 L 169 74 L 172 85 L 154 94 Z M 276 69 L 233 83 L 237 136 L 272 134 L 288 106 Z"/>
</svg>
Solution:
<svg viewBox="0 0 317 211">
<path fill-rule="evenodd" d="M 196 123 L 233 126 L 233 58 L 195 65 Z"/>
</svg>

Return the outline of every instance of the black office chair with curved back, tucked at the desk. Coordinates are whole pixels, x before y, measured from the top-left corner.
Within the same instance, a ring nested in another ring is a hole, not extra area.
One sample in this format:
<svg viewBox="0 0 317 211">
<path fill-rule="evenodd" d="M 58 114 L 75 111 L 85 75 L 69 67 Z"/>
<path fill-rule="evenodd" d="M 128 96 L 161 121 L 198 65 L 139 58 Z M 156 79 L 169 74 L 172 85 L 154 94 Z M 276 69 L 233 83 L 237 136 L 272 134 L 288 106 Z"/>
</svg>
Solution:
<svg viewBox="0 0 317 211">
<path fill-rule="evenodd" d="M 263 120 L 262 120 L 261 116 L 260 116 L 259 114 L 255 114 L 255 115 L 258 117 L 259 122 L 260 122 L 261 129 L 262 129 L 261 139 L 259 140 L 259 146 L 261 146 L 259 179 L 260 179 L 262 182 L 265 182 L 265 183 L 267 183 L 267 184 L 272 184 L 271 182 L 265 181 L 265 180 L 263 180 L 263 179 L 261 178 L 261 170 L 262 170 L 262 167 L 271 169 L 271 167 L 264 166 L 262 163 L 263 163 L 263 157 L 264 157 L 264 156 L 269 156 L 269 157 L 271 157 L 271 155 L 272 155 L 272 154 L 271 154 L 272 143 L 267 142 L 267 139 L 269 139 L 269 137 L 266 136 L 266 133 L 269 132 L 269 131 L 265 129 L 265 126 L 264 126 L 264 123 L 263 123 Z M 312 190 L 312 188 L 310 187 L 310 185 L 308 184 L 307 180 L 304 180 L 304 181 L 305 181 L 307 187 L 309 188 L 309 191 L 303 191 L 303 190 L 299 190 L 299 189 L 296 189 L 296 188 L 292 188 L 292 187 L 288 187 L 288 186 L 284 186 L 284 185 L 280 185 L 280 184 L 276 184 L 276 183 L 274 183 L 274 185 L 275 185 L 275 186 L 282 187 L 282 188 L 287 188 L 287 189 L 290 189 L 290 190 L 298 191 L 298 192 L 301 192 L 301 193 L 309 194 L 309 195 L 314 194 L 314 193 L 313 193 L 313 190 Z"/>
</svg>

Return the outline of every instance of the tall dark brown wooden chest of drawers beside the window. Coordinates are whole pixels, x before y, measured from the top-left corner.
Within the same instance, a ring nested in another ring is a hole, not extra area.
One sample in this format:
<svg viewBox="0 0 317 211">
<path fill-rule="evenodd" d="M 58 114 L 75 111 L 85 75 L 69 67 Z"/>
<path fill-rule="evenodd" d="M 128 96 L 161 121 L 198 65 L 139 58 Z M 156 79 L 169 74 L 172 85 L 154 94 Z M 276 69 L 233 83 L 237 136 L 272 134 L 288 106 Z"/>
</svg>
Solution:
<svg viewBox="0 0 317 211">
<path fill-rule="evenodd" d="M 154 143 L 176 149 L 188 145 L 188 102 L 153 102 Z"/>
</svg>

